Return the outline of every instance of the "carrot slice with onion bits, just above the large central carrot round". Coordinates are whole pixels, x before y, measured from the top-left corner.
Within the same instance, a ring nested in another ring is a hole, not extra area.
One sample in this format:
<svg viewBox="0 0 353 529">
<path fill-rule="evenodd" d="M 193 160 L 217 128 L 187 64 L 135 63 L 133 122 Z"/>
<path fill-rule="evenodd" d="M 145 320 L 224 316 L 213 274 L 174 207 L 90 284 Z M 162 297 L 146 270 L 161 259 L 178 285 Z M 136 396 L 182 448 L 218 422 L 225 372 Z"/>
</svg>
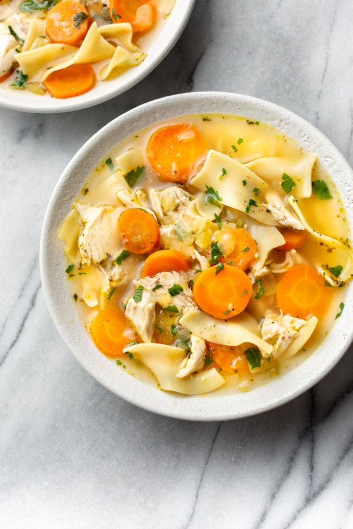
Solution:
<svg viewBox="0 0 353 529">
<path fill-rule="evenodd" d="M 216 239 L 223 252 L 221 262 L 246 270 L 256 256 L 256 242 L 244 228 L 225 228 L 216 232 Z"/>
</svg>

